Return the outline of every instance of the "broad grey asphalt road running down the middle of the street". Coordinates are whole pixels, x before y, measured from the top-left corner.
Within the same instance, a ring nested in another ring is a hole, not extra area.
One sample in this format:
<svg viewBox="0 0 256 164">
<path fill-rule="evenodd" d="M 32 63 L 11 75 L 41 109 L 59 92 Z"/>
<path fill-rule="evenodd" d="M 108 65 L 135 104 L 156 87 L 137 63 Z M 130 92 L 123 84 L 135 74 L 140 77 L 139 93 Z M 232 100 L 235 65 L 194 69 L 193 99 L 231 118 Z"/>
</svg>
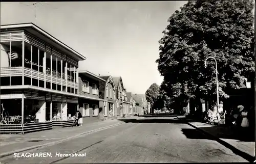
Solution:
<svg viewBox="0 0 256 164">
<path fill-rule="evenodd" d="M 116 127 L 79 136 L 54 146 L 26 151 L 51 157 L 8 156 L 2 163 L 241 162 L 246 160 L 175 118 L 123 120 Z M 58 157 L 56 153 L 86 153 Z"/>
</svg>

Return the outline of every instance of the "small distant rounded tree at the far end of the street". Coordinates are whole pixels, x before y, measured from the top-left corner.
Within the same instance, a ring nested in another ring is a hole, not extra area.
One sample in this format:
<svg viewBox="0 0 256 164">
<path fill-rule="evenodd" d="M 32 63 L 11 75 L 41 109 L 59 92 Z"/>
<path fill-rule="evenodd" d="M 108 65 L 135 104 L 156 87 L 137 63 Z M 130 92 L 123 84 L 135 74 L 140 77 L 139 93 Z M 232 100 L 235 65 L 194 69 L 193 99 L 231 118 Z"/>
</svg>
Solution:
<svg viewBox="0 0 256 164">
<path fill-rule="evenodd" d="M 150 88 L 146 90 L 146 100 L 147 102 L 150 102 L 151 106 L 154 105 L 156 102 L 158 95 L 159 95 L 159 89 L 160 87 L 156 84 L 153 83 Z"/>
</svg>

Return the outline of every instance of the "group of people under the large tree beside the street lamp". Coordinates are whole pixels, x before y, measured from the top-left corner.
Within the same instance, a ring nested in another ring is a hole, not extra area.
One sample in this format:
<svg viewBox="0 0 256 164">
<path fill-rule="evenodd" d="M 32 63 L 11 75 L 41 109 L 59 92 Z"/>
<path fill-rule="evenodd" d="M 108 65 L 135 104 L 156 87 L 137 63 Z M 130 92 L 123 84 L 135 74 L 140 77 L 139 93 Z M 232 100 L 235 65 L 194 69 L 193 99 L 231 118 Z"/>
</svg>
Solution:
<svg viewBox="0 0 256 164">
<path fill-rule="evenodd" d="M 227 114 L 223 111 L 223 102 L 221 101 L 219 106 L 215 105 L 213 110 L 208 110 L 205 120 L 210 124 L 232 124 L 241 127 L 249 127 L 249 120 L 247 118 L 247 110 L 243 105 L 237 106 L 237 110 L 231 110 Z"/>
</svg>

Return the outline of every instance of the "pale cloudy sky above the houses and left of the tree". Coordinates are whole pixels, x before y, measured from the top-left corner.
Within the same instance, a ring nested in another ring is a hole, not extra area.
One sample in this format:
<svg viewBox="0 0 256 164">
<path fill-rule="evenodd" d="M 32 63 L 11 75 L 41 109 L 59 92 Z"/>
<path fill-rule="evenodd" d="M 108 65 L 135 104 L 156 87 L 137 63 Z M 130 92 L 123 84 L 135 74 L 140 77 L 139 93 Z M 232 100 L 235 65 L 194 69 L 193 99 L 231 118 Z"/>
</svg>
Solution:
<svg viewBox="0 0 256 164">
<path fill-rule="evenodd" d="M 187 1 L 1 3 L 1 25 L 33 22 L 87 58 L 80 70 L 121 76 L 145 93 L 163 77 L 155 61 L 168 18 Z M 36 13 L 36 18 L 35 18 Z"/>
</svg>

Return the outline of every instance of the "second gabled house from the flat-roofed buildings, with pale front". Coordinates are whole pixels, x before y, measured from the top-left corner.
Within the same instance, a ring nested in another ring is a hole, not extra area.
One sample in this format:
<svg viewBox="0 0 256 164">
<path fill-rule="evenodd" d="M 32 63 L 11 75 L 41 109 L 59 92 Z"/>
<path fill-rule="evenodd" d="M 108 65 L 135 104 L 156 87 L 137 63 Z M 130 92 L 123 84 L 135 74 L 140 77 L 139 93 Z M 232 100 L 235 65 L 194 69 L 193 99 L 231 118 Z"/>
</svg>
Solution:
<svg viewBox="0 0 256 164">
<path fill-rule="evenodd" d="M 115 89 L 116 89 L 116 99 L 117 99 L 117 116 L 127 116 L 129 113 L 130 102 L 127 101 L 126 90 L 123 86 L 123 81 L 121 76 L 113 77 Z"/>
</svg>

